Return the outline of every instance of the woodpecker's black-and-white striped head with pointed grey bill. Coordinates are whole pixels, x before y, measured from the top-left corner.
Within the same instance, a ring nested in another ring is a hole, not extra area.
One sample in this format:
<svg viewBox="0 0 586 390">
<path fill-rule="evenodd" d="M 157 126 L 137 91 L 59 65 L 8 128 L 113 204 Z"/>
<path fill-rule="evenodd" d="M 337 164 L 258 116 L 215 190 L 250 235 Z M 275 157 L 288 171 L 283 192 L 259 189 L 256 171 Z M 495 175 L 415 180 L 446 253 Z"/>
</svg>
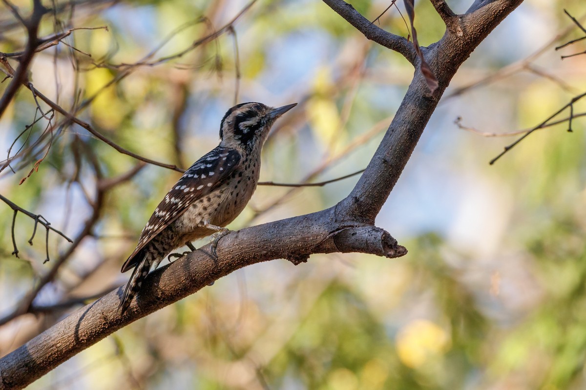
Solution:
<svg viewBox="0 0 586 390">
<path fill-rule="evenodd" d="M 224 146 L 244 150 L 262 145 L 272 124 L 297 103 L 272 108 L 263 103 L 241 103 L 230 108 L 220 124 L 220 139 Z"/>
</svg>

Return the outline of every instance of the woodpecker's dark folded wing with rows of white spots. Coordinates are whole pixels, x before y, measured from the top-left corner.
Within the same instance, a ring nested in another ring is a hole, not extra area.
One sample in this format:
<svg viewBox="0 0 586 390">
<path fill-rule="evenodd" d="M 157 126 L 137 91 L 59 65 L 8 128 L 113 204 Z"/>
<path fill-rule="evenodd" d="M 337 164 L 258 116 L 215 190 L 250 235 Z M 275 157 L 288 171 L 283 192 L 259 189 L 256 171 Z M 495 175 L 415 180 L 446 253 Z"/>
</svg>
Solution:
<svg viewBox="0 0 586 390">
<path fill-rule="evenodd" d="M 240 153 L 236 150 L 218 146 L 193 163 L 165 195 L 165 199 L 156 206 L 147 226 L 142 229 L 137 249 L 122 265 L 121 272 L 126 272 L 137 265 L 142 260 L 137 254 L 165 227 L 182 215 L 193 201 L 209 194 L 222 183 L 234 170 L 240 158 Z"/>
</svg>

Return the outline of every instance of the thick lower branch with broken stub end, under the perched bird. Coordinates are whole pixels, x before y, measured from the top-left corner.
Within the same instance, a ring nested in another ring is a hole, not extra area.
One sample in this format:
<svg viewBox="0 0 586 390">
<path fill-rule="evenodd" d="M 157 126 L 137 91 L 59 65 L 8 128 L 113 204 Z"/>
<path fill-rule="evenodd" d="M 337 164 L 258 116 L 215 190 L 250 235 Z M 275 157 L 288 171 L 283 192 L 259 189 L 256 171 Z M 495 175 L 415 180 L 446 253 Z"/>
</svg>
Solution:
<svg viewBox="0 0 586 390">
<path fill-rule="evenodd" d="M 217 259 L 207 245 L 152 272 L 124 316 L 117 309 L 118 288 L 2 358 L 0 389 L 26 386 L 108 334 L 246 265 L 277 258 L 298 264 L 312 253 L 357 251 L 390 258 L 407 252 L 382 229 L 340 219 L 343 210 L 330 208 L 231 233 L 220 241 Z"/>
</svg>

